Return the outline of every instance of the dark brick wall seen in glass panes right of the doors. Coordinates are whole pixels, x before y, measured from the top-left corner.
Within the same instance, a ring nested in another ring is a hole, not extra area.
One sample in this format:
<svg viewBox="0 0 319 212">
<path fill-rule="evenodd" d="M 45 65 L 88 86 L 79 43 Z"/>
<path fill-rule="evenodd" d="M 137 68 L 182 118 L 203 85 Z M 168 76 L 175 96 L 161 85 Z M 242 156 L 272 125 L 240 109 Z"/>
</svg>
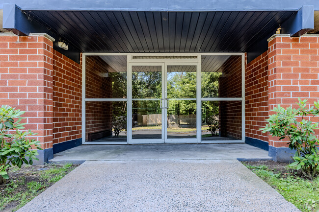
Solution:
<svg viewBox="0 0 319 212">
<path fill-rule="evenodd" d="M 241 56 L 231 56 L 220 68 L 218 97 L 241 97 Z M 220 101 L 221 136 L 241 139 L 241 101 Z"/>
</svg>

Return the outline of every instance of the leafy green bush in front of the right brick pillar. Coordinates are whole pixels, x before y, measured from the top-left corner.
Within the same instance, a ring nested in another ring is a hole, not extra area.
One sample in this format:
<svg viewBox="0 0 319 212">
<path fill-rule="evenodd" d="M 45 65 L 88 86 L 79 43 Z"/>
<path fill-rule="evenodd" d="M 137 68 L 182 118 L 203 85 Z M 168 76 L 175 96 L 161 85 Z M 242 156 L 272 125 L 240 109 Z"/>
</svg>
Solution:
<svg viewBox="0 0 319 212">
<path fill-rule="evenodd" d="M 263 133 L 269 132 L 273 137 L 280 137 L 280 140 L 288 139 L 289 148 L 296 150 L 292 157 L 294 162 L 291 165 L 296 165 L 297 170 L 301 169 L 303 175 L 312 180 L 319 163 L 317 148 L 319 140 L 315 136 L 315 130 L 319 128 L 318 122 L 311 120 L 319 116 L 319 101 L 314 102 L 314 106 L 307 108 L 307 100 L 298 99 L 298 109 L 288 107 L 285 110 L 278 105 L 271 110 L 276 113 L 266 119 L 268 124 L 261 130 Z"/>
</svg>

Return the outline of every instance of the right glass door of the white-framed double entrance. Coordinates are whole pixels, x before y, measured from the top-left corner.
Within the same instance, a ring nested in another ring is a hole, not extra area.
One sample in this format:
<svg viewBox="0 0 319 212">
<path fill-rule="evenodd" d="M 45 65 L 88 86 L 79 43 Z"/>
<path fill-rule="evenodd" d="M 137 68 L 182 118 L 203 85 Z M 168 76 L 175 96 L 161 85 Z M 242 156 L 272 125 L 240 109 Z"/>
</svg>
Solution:
<svg viewBox="0 0 319 212">
<path fill-rule="evenodd" d="M 165 142 L 197 142 L 197 65 L 165 65 Z"/>
</svg>

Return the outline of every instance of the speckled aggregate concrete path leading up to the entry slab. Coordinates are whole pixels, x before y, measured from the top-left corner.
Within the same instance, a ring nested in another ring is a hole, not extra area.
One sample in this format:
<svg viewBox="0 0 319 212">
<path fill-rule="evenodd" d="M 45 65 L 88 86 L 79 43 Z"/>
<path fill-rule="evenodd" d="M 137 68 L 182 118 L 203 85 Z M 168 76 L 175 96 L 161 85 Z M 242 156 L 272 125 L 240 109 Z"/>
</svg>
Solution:
<svg viewBox="0 0 319 212">
<path fill-rule="evenodd" d="M 85 162 L 28 211 L 300 212 L 237 160 Z"/>
</svg>

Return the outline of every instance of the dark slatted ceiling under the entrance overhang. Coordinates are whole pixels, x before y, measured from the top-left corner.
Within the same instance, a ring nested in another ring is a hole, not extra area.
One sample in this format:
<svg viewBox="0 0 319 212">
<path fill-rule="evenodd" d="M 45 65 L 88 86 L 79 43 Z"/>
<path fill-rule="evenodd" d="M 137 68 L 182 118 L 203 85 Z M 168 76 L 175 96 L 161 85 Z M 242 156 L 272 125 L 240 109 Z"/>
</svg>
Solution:
<svg viewBox="0 0 319 212">
<path fill-rule="evenodd" d="M 292 11 L 25 11 L 82 52 L 244 52 Z"/>
</svg>

